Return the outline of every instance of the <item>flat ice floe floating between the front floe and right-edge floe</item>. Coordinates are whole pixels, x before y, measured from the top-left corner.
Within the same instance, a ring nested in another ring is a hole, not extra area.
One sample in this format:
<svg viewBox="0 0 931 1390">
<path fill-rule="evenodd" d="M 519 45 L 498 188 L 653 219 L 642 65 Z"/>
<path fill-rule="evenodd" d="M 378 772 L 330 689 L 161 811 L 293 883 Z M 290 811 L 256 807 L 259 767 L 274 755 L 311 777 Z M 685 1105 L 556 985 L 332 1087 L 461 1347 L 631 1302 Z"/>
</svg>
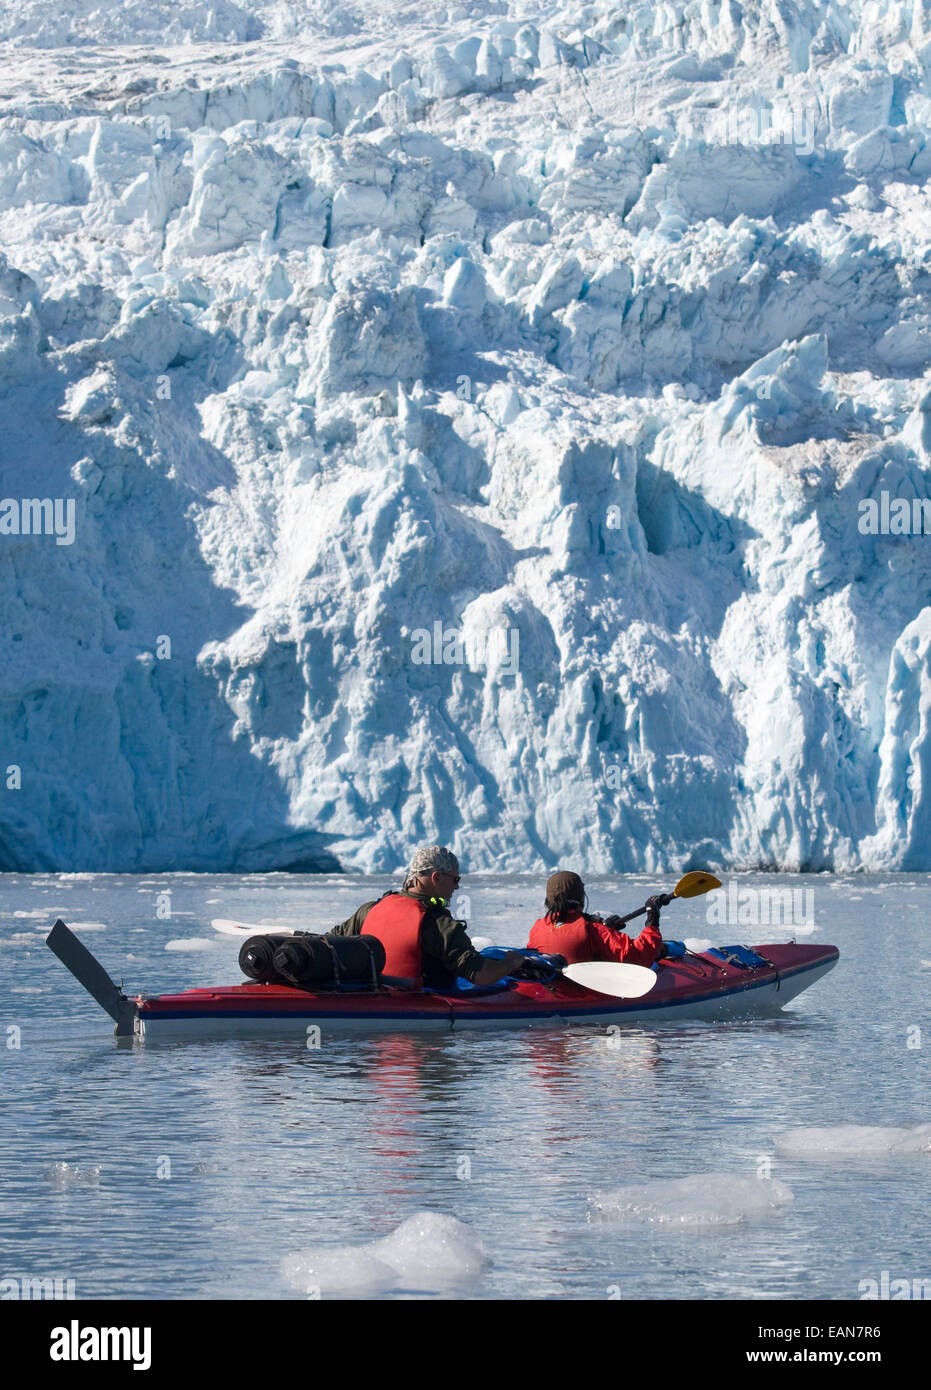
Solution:
<svg viewBox="0 0 931 1390">
<path fill-rule="evenodd" d="M 614 1187 L 589 1197 L 596 1220 L 642 1220 L 656 1226 L 736 1226 L 795 1200 L 777 1177 L 699 1173 Z"/>
</svg>

